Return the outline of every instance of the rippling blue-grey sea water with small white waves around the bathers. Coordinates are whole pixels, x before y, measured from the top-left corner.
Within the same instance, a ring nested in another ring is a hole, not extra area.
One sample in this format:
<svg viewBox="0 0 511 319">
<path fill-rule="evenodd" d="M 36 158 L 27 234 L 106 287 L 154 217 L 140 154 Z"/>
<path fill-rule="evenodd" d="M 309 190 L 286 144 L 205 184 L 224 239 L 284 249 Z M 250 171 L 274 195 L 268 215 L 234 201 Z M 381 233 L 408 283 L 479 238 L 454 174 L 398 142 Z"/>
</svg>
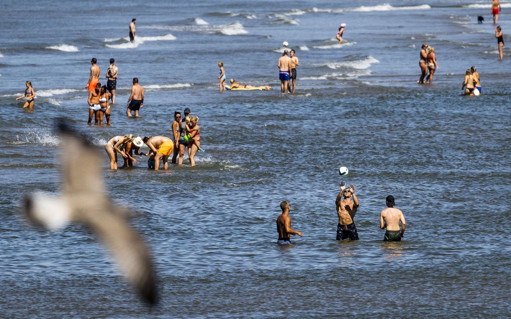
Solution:
<svg viewBox="0 0 511 319">
<path fill-rule="evenodd" d="M 508 317 L 510 104 L 487 1 L 383 3 L 222 0 L 203 3 L 0 2 L 0 313 L 5 317 Z M 499 22 L 511 30 L 507 8 Z M 101 10 L 98 10 L 101 8 Z M 399 9 L 399 10 L 398 10 Z M 20 18 L 27 14 L 30 19 Z M 477 24 L 477 15 L 485 16 Z M 137 18 L 135 44 L 128 22 Z M 425 23 L 430 22 L 428 26 Z M 338 24 L 347 23 L 337 47 Z M 206 24 L 207 23 L 207 24 Z M 174 39 L 175 38 L 175 39 Z M 296 94 L 278 91 L 281 43 L 297 48 Z M 510 42 L 507 35 L 504 41 Z M 423 42 L 434 84 L 417 85 Z M 348 45 L 349 44 L 349 45 Z M 48 48 L 53 47 L 53 48 Z M 87 127 L 90 58 L 120 68 L 111 127 Z M 227 78 L 271 91 L 217 92 Z M 483 94 L 461 95 L 476 65 Z M 124 115 L 130 82 L 141 118 Z M 14 101 L 32 81 L 30 112 Z M 108 170 L 115 135 L 169 135 L 174 110 L 200 117 L 197 166 Z M 86 228 L 33 228 L 24 194 L 59 187 L 56 118 L 104 156 L 115 202 L 148 241 L 160 304 L 148 309 Z M 335 240 L 339 166 L 360 201 L 361 240 Z M 393 194 L 406 237 L 384 243 L 379 212 Z M 281 201 L 293 246 L 276 245 Z M 491 306 L 490 306 L 491 305 Z"/>
</svg>

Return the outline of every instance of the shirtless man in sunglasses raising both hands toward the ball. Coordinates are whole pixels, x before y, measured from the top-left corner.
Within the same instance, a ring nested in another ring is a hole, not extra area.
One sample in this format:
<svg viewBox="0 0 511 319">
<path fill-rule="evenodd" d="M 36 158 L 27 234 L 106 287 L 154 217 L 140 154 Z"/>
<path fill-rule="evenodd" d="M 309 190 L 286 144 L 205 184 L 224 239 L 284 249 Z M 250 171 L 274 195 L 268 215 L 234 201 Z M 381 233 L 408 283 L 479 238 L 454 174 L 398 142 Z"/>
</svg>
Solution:
<svg viewBox="0 0 511 319">
<path fill-rule="evenodd" d="M 355 214 L 358 209 L 358 199 L 355 195 L 355 187 L 350 185 L 350 188 L 346 188 L 346 184 L 341 182 L 341 191 L 335 199 L 335 207 L 337 208 L 337 216 L 339 217 L 339 223 L 337 224 L 337 240 L 358 240 L 357 227 L 353 222 Z M 341 197 L 344 195 L 344 199 L 341 201 Z M 352 202 L 353 198 L 353 202 Z"/>
</svg>

